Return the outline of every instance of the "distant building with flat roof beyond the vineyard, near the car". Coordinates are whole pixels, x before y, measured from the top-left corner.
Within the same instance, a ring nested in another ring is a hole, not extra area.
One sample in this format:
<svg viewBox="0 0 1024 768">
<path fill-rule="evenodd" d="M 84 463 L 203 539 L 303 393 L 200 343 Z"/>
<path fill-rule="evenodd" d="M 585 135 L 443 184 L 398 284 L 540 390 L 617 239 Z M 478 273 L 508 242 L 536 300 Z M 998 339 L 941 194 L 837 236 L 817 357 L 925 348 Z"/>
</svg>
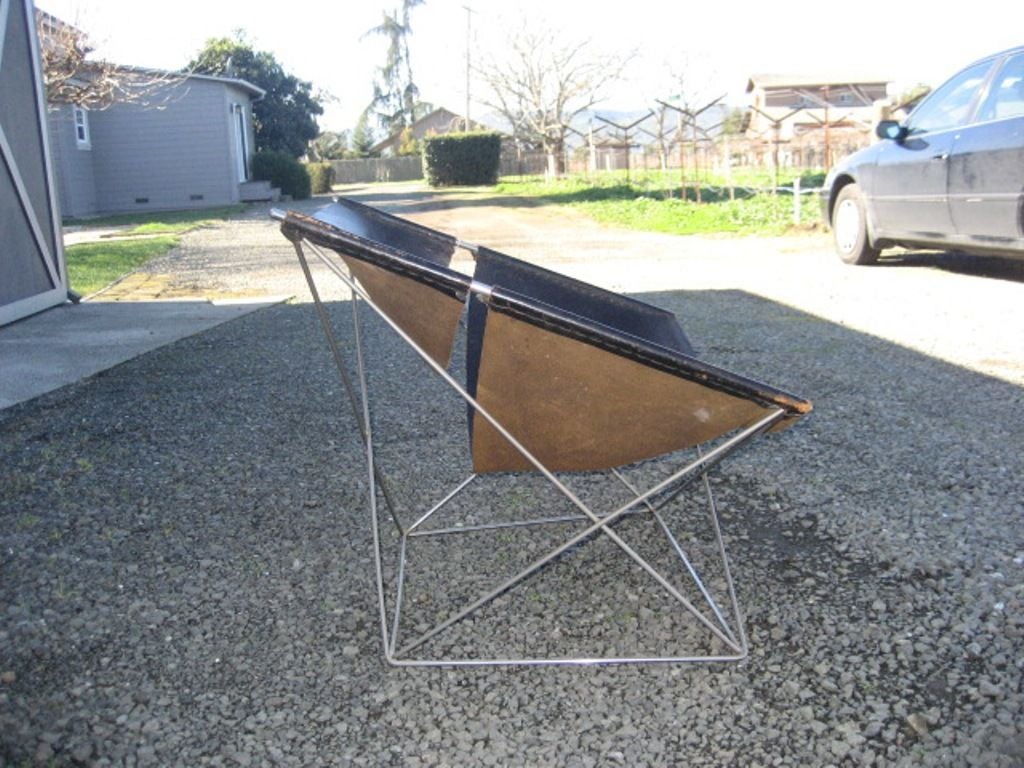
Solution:
<svg viewBox="0 0 1024 768">
<path fill-rule="evenodd" d="M 748 135 L 769 135 L 777 122 L 783 141 L 810 130 L 859 127 L 868 130 L 877 120 L 877 101 L 888 97 L 891 80 L 878 77 L 823 75 L 753 75 Z"/>
</svg>

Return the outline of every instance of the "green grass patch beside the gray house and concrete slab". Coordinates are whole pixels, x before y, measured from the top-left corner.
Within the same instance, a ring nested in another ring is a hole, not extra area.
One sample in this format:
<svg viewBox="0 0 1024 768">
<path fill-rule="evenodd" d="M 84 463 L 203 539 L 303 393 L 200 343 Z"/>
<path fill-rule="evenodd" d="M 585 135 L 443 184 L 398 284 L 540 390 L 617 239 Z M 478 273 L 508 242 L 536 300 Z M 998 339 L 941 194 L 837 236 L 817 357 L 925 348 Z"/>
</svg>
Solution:
<svg viewBox="0 0 1024 768">
<path fill-rule="evenodd" d="M 82 296 L 89 296 L 142 266 L 150 259 L 175 248 L 181 234 L 223 221 L 242 210 L 245 210 L 245 206 L 130 213 L 65 221 L 66 225 L 74 225 L 79 229 L 126 227 L 117 237 L 65 249 L 71 290 Z"/>
</svg>

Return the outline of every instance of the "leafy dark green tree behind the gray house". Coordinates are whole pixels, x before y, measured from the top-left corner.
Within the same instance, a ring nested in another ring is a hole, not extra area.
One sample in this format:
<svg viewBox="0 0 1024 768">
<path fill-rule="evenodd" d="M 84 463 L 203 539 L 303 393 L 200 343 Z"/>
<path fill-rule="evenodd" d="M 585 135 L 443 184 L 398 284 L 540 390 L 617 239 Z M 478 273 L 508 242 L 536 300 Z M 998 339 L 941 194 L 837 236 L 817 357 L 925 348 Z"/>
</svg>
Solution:
<svg viewBox="0 0 1024 768">
<path fill-rule="evenodd" d="M 253 104 L 258 150 L 284 152 L 298 158 L 319 133 L 316 117 L 324 114 L 324 106 L 312 84 L 285 72 L 272 53 L 253 50 L 242 32 L 234 33 L 233 38 L 207 40 L 188 69 L 246 80 L 266 91 Z"/>
</svg>

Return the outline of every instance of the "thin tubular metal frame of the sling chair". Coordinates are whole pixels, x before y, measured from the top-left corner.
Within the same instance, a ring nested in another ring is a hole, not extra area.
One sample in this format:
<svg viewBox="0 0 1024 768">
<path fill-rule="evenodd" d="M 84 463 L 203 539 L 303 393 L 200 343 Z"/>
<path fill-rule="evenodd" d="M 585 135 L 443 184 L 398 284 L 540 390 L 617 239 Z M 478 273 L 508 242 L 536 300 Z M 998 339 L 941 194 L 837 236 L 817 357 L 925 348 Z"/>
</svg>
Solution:
<svg viewBox="0 0 1024 768">
<path fill-rule="evenodd" d="M 356 282 L 353 275 L 343 268 L 338 263 L 335 263 L 327 254 L 324 253 L 317 246 L 308 241 L 304 241 L 301 238 L 292 239 L 292 243 L 295 247 L 296 254 L 298 256 L 299 262 L 302 267 L 303 274 L 309 286 L 310 294 L 312 295 L 313 303 L 315 305 L 316 313 L 318 315 L 321 325 L 323 326 L 325 337 L 328 341 L 328 345 L 331 348 L 331 353 L 334 358 L 335 365 L 338 368 L 338 372 L 341 376 L 342 382 L 346 394 L 348 395 L 349 402 L 352 407 L 353 415 L 355 416 L 356 422 L 358 423 L 358 429 L 362 442 L 366 449 L 367 455 L 367 472 L 368 472 L 368 482 L 369 482 L 369 498 L 370 498 L 370 512 L 371 512 L 371 528 L 373 534 L 373 545 L 374 545 L 374 561 L 375 561 L 375 572 L 377 581 L 377 592 L 378 592 L 378 611 L 380 621 L 380 632 L 381 640 L 384 648 L 384 656 L 388 664 L 396 667 L 481 667 L 481 666 L 497 666 L 497 665 L 523 665 L 523 666 L 541 666 L 541 665 L 595 665 L 595 664 L 652 664 L 652 663 L 700 663 L 700 662 L 737 662 L 746 657 L 748 655 L 748 639 L 746 634 L 743 629 L 742 614 L 739 608 L 739 604 L 736 599 L 735 586 L 732 580 L 731 569 L 729 567 L 729 560 L 725 549 L 725 544 L 722 539 L 721 525 L 718 518 L 718 508 L 715 503 L 715 497 L 712 493 L 711 482 L 708 478 L 709 470 L 725 459 L 733 451 L 739 449 L 745 443 L 750 442 L 758 435 L 768 431 L 773 426 L 775 426 L 779 421 L 785 418 L 785 412 L 782 409 L 771 410 L 767 416 L 758 421 L 757 423 L 746 427 L 745 429 L 739 431 L 738 433 L 732 435 L 723 442 L 712 447 L 707 454 L 702 453 L 697 447 L 697 456 L 694 460 L 687 463 L 681 469 L 677 470 L 668 478 L 655 483 L 650 488 L 645 492 L 639 492 L 634 487 L 629 480 L 617 470 L 611 470 L 612 475 L 617 478 L 617 480 L 623 484 L 623 486 L 632 496 L 632 499 L 625 504 L 618 506 L 617 508 L 600 514 L 595 512 L 589 505 L 583 502 L 580 497 L 573 493 L 560 478 L 558 478 L 551 470 L 549 470 L 544 464 L 542 464 L 529 451 L 519 442 L 516 437 L 511 434 L 497 419 L 495 419 L 487 411 L 484 409 L 477 400 L 469 394 L 469 392 L 463 387 L 463 385 L 458 382 L 444 368 L 442 368 L 438 362 L 436 362 L 433 357 L 430 356 L 420 345 L 418 345 L 410 336 L 407 334 L 391 317 L 387 315 L 368 295 L 368 293 L 362 289 L 362 287 Z M 309 263 L 303 249 L 303 245 L 307 246 L 309 250 L 317 257 L 317 259 L 339 280 L 341 280 L 344 285 L 351 292 L 351 304 L 352 304 L 352 326 L 354 334 L 354 352 L 355 352 L 355 364 L 356 364 L 356 378 L 358 384 L 358 394 L 356 394 L 356 387 L 353 386 L 351 377 L 346 369 L 346 364 L 344 356 L 341 352 L 341 347 L 338 343 L 337 337 L 334 333 L 333 326 L 330 316 L 324 307 L 323 301 L 317 291 L 315 281 L 313 279 L 312 272 L 309 268 Z M 340 261 L 340 259 L 339 259 Z M 343 263 L 343 262 L 342 262 Z M 488 286 L 472 283 L 470 287 L 469 295 L 466 301 L 469 302 L 473 300 L 474 295 L 486 296 L 489 293 L 490 288 Z M 542 474 L 550 483 L 553 485 L 558 493 L 564 497 L 573 507 L 579 510 L 579 514 L 562 515 L 557 517 L 546 517 L 540 519 L 529 519 L 529 520 L 517 520 L 512 522 L 498 522 L 481 525 L 468 525 L 468 526 L 458 526 L 458 527 L 445 527 L 445 528 L 433 528 L 429 530 L 424 530 L 424 524 L 432 518 L 437 513 L 441 512 L 449 504 L 451 504 L 460 494 L 462 494 L 470 484 L 476 480 L 477 475 L 470 474 L 466 479 L 460 482 L 455 488 L 447 493 L 439 502 L 437 502 L 428 511 L 421 514 L 415 522 L 411 525 L 402 526 L 398 515 L 396 514 L 394 504 L 391 499 L 391 495 L 388 493 L 385 477 L 381 472 L 380 468 L 377 466 L 377 461 L 374 455 L 374 435 L 371 426 L 371 409 L 370 409 L 370 393 L 367 385 L 367 368 L 366 360 L 362 351 L 362 330 L 359 321 L 359 303 L 365 303 L 371 310 L 373 310 L 377 315 L 379 315 L 384 323 L 397 334 L 407 344 L 409 344 L 413 350 L 423 359 L 423 361 L 431 369 L 431 371 L 438 377 L 440 377 L 450 387 L 452 387 L 463 400 L 465 400 L 470 408 L 472 408 L 476 413 L 478 413 L 484 420 L 486 420 L 492 427 L 494 427 L 506 440 L 509 441 L 511 445 L 540 473 Z M 670 529 L 664 515 L 660 510 L 670 502 L 672 502 L 680 493 L 682 493 L 690 483 L 700 479 L 703 484 L 705 495 L 708 499 L 708 514 L 710 516 L 711 526 L 714 531 L 715 545 L 717 556 L 721 561 L 722 565 L 722 575 L 727 588 L 728 596 L 728 608 L 723 609 L 722 606 L 711 595 L 707 586 L 700 579 L 699 573 L 694 567 L 690 557 L 687 555 L 686 551 L 680 545 L 676 536 Z M 384 579 L 384 552 L 383 545 L 381 541 L 380 531 L 380 508 L 378 505 L 378 495 L 377 488 L 381 488 L 381 496 L 384 499 L 385 506 L 389 517 L 395 525 L 397 534 L 400 538 L 398 545 L 398 558 L 397 558 L 397 575 L 395 578 L 394 585 L 394 600 L 393 604 L 389 605 L 387 599 L 387 586 Z M 666 536 L 673 553 L 681 562 L 686 574 L 693 582 L 696 589 L 701 595 L 705 603 L 707 603 L 708 609 L 710 609 L 710 614 L 705 613 L 700 607 L 694 605 L 694 603 L 687 599 L 682 593 L 679 592 L 676 587 L 662 573 L 659 572 L 648 560 L 643 558 L 638 554 L 632 547 L 630 547 L 623 539 L 612 529 L 611 525 L 617 520 L 629 516 L 629 515 L 642 515 L 649 514 L 656 521 L 657 526 L 660 528 L 663 534 Z M 580 522 L 585 523 L 589 521 L 589 525 L 582 531 L 577 532 L 571 536 L 568 540 L 562 544 L 555 546 L 547 554 L 540 558 L 534 560 L 529 565 L 522 568 L 515 575 L 507 579 L 498 587 L 492 589 L 486 594 L 481 595 L 479 598 L 471 602 L 470 604 L 464 606 L 463 608 L 457 610 L 455 613 L 450 615 L 444 621 L 435 625 L 434 627 L 422 632 L 418 637 L 406 642 L 404 644 L 398 643 L 398 639 L 402 634 L 401 627 L 401 611 L 402 611 L 402 600 L 404 592 L 404 579 L 406 579 L 406 565 L 407 565 L 407 548 L 411 540 L 425 538 L 425 537 L 438 537 L 438 536 L 456 536 L 458 534 L 465 534 L 471 531 L 489 531 L 499 530 L 502 528 L 509 527 L 522 527 L 522 526 L 534 526 L 534 525 L 549 525 L 553 523 L 569 523 L 569 522 Z M 462 622 L 463 620 L 471 616 L 474 612 L 487 605 L 501 595 L 509 592 L 517 585 L 523 583 L 525 580 L 532 577 L 535 573 L 544 568 L 548 563 L 550 563 L 555 558 L 559 557 L 566 550 L 577 546 L 578 544 L 596 536 L 598 532 L 603 534 L 608 539 L 610 539 L 626 555 L 628 555 L 634 562 L 636 562 L 644 571 L 647 572 L 657 584 L 663 588 L 663 590 L 673 597 L 689 615 L 696 620 L 699 625 L 701 625 L 708 632 L 711 633 L 715 638 L 717 638 L 727 649 L 726 652 L 721 654 L 694 654 L 694 655 L 664 655 L 664 656 L 608 656 L 608 657 L 582 657 L 582 656 L 564 656 L 564 657 L 494 657 L 494 658 L 424 658 L 416 657 L 410 655 L 412 651 L 420 648 L 420 646 L 425 645 L 430 640 L 442 635 L 445 630 L 452 628 L 454 625 Z M 390 615 L 390 618 L 389 618 Z"/>
</svg>

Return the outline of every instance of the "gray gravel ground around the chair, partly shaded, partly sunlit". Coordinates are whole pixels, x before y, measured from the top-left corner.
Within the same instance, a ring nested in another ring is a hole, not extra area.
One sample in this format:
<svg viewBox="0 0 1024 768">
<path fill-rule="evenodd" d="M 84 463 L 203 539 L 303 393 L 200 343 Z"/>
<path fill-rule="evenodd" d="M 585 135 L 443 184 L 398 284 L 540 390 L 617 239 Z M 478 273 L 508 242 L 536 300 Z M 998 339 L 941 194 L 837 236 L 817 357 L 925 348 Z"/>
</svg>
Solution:
<svg viewBox="0 0 1024 768">
<path fill-rule="evenodd" d="M 643 293 L 705 358 L 814 401 L 716 473 L 750 658 L 388 668 L 360 445 L 300 301 L 0 412 L 0 764 L 1024 765 L 1024 273 L 851 269 L 816 237 L 674 239 L 384 188 L 368 199 Z M 264 213 L 155 271 L 301 299 Z M 464 414 L 389 386 L 416 364 L 368 334 L 389 360 L 382 462 L 422 503 L 418 479 L 465 464 L 441 438 Z M 479 577 L 486 556 L 444 565 Z M 544 593 L 516 630 L 552 637 L 603 600 L 612 629 L 586 640 L 671 640 L 615 567 L 600 597 L 553 569 L 564 612 Z"/>
</svg>

